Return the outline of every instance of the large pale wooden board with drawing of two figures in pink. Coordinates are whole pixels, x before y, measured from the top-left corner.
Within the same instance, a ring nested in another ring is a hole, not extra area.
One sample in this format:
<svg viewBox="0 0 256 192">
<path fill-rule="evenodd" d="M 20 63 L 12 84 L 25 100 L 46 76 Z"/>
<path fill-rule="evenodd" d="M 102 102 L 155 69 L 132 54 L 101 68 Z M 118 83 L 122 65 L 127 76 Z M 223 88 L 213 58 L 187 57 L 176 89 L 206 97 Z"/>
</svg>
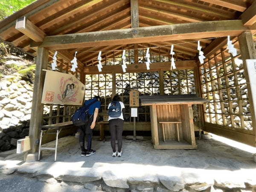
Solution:
<svg viewBox="0 0 256 192">
<path fill-rule="evenodd" d="M 75 76 L 45 70 L 42 103 L 57 105 L 82 105 L 84 98 L 84 84 Z"/>
</svg>

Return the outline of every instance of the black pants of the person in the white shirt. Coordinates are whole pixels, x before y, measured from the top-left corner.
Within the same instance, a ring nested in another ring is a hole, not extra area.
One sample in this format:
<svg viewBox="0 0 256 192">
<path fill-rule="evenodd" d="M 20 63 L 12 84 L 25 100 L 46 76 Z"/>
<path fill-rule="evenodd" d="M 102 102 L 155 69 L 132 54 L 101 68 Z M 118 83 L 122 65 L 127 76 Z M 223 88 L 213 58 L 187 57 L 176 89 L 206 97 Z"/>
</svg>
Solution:
<svg viewBox="0 0 256 192">
<path fill-rule="evenodd" d="M 122 131 L 124 121 L 122 119 L 111 119 L 109 121 L 109 131 L 111 135 L 111 147 L 116 152 L 116 140 L 118 141 L 118 152 L 122 149 Z"/>
</svg>

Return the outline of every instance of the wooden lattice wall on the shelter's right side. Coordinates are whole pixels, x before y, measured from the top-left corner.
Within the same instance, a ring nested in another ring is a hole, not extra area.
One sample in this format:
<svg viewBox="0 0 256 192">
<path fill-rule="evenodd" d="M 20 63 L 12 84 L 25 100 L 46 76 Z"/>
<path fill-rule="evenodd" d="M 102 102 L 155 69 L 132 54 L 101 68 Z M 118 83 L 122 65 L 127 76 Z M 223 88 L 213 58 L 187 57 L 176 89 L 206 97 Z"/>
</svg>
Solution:
<svg viewBox="0 0 256 192">
<path fill-rule="evenodd" d="M 239 47 L 239 42 L 234 42 Z M 200 66 L 205 122 L 244 132 L 253 130 L 244 64 L 239 53 L 233 57 L 227 49 L 207 58 Z"/>
</svg>

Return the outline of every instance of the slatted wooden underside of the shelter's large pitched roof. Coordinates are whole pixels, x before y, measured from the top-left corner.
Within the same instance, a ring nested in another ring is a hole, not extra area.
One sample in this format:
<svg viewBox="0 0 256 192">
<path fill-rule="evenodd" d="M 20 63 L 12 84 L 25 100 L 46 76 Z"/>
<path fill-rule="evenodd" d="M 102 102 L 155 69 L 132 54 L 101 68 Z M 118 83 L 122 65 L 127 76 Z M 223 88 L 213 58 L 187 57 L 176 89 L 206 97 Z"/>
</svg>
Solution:
<svg viewBox="0 0 256 192">
<path fill-rule="evenodd" d="M 139 26 L 172 25 L 212 20 L 235 20 L 253 3 L 253 0 L 138 0 Z M 0 38 L 25 51 L 36 55 L 36 49 L 30 47 L 30 39 L 15 29 L 17 18 L 26 16 L 47 36 L 80 32 L 106 31 L 131 28 L 130 0 L 37 0 L 29 6 L 0 22 Z M 160 41 L 138 44 L 138 47 L 180 44 L 201 40 L 204 48 L 211 40 L 186 39 L 179 41 Z M 100 50 L 131 49 L 134 45 L 86 47 L 64 50 L 63 55 L 79 51 L 78 60 L 85 65 L 96 59 Z M 186 59 L 197 55 L 197 43 L 175 46 L 175 52 L 183 54 Z M 161 52 L 169 54 L 170 47 Z M 62 50 L 63 51 L 63 50 Z M 87 51 L 87 52 L 86 52 Z M 159 52 L 158 49 L 152 49 Z M 50 52 L 53 55 L 54 51 Z M 113 52 L 104 52 L 105 55 Z M 117 52 L 116 54 L 121 54 Z M 65 59 L 65 58 L 64 58 Z M 66 59 L 67 61 L 67 59 Z"/>
</svg>

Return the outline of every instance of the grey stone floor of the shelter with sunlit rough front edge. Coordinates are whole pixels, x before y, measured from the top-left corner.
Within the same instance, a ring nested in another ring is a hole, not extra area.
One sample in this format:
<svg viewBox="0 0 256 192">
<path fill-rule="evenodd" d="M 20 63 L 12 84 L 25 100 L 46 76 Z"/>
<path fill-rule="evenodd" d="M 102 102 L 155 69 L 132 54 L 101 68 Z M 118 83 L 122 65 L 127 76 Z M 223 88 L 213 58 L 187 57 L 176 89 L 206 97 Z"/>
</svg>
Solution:
<svg viewBox="0 0 256 192">
<path fill-rule="evenodd" d="M 112 157 L 109 138 L 93 139 L 96 154 L 81 157 L 78 139 L 59 139 L 54 151 L 43 151 L 39 162 L 0 161 L 0 172 L 29 174 L 84 184 L 104 191 L 253 191 L 256 163 L 253 154 L 216 140 L 197 140 L 195 150 L 155 150 L 150 138 L 123 140 L 123 156 Z M 54 147 L 47 143 L 46 147 Z M 19 165 L 17 165 L 19 164 Z"/>
</svg>

